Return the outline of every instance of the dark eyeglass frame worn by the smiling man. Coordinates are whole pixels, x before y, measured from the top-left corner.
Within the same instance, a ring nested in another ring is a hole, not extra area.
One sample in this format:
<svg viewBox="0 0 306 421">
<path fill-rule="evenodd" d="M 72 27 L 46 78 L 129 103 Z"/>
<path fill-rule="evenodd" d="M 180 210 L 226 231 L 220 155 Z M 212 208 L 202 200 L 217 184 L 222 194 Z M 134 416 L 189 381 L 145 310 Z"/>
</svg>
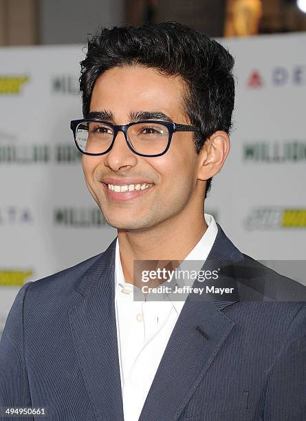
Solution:
<svg viewBox="0 0 306 421">
<path fill-rule="evenodd" d="M 77 129 L 78 125 L 80 123 L 83 123 L 83 122 L 100 122 L 102 124 L 108 125 L 108 126 L 113 128 L 113 140 L 112 140 L 109 148 L 105 152 L 102 152 L 102 153 L 85 152 L 85 151 L 82 151 L 82 149 L 80 149 L 80 147 L 78 147 L 78 143 L 76 142 L 76 129 Z M 167 144 L 164 152 L 156 153 L 155 155 L 146 155 L 144 153 L 139 153 L 139 152 L 135 151 L 135 149 L 133 148 L 133 145 L 131 144 L 131 142 L 129 141 L 129 139 L 127 137 L 127 131 L 129 129 L 129 127 L 131 127 L 133 125 L 138 125 L 138 123 L 148 123 L 148 124 L 156 123 L 156 124 L 159 124 L 159 125 L 164 125 L 168 129 L 168 144 Z M 97 120 L 97 119 L 91 119 L 91 118 L 81 118 L 80 120 L 72 120 L 70 122 L 70 129 L 72 129 L 72 132 L 74 133 L 74 142 L 76 143 L 76 147 L 78 148 L 78 150 L 81 153 L 84 153 L 85 155 L 94 155 L 94 156 L 105 155 L 105 153 L 108 153 L 111 150 L 111 148 L 113 147 L 113 144 L 115 142 L 118 131 L 123 131 L 124 138 L 127 142 L 127 146 L 129 147 L 129 149 L 131 149 L 131 151 L 133 153 L 135 153 L 136 155 L 146 156 L 146 157 L 150 157 L 150 158 L 155 157 L 155 156 L 164 155 L 164 153 L 166 153 L 166 151 L 168 151 L 168 149 L 170 147 L 170 144 L 171 144 L 172 135 L 173 135 L 173 133 L 175 133 L 175 131 L 201 131 L 201 129 L 199 129 L 199 127 L 190 126 L 190 125 L 179 125 L 175 122 L 161 121 L 161 120 L 140 120 L 140 121 L 130 122 L 127 125 L 113 125 L 113 123 L 111 123 L 109 121 Z"/>
</svg>

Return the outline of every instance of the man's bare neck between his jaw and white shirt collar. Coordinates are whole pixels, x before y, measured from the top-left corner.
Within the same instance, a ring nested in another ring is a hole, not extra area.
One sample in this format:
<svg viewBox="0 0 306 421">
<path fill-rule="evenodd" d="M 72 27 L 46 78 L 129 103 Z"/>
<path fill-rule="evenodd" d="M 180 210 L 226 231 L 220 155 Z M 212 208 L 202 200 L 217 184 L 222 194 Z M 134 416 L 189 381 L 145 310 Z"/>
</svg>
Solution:
<svg viewBox="0 0 306 421">
<path fill-rule="evenodd" d="M 197 224 L 193 221 L 197 221 Z M 188 212 L 186 215 L 175 215 L 146 230 L 118 230 L 125 281 L 133 283 L 134 260 L 184 260 L 207 228 L 204 208 L 201 208 L 193 217 Z"/>
</svg>

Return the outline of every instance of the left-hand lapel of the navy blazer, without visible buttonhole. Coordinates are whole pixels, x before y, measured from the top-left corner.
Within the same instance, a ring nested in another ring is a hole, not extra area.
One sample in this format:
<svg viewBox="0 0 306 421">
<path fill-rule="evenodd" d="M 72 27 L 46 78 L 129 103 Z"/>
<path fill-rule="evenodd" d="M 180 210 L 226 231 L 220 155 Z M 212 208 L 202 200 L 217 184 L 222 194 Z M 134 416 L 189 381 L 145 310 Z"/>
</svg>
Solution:
<svg viewBox="0 0 306 421">
<path fill-rule="evenodd" d="M 124 421 L 115 312 L 116 239 L 76 285 L 69 310 L 76 356 L 96 419 Z"/>
</svg>

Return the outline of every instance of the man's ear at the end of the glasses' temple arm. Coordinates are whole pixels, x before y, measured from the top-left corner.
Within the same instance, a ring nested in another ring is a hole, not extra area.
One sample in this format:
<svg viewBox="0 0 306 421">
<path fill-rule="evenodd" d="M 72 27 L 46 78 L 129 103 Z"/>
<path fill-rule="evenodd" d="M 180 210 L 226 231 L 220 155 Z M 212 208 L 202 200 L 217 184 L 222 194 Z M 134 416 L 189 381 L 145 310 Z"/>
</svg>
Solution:
<svg viewBox="0 0 306 421">
<path fill-rule="evenodd" d="M 230 138 L 226 131 L 215 131 L 199 153 L 198 179 L 208 180 L 221 170 L 230 151 Z"/>
</svg>

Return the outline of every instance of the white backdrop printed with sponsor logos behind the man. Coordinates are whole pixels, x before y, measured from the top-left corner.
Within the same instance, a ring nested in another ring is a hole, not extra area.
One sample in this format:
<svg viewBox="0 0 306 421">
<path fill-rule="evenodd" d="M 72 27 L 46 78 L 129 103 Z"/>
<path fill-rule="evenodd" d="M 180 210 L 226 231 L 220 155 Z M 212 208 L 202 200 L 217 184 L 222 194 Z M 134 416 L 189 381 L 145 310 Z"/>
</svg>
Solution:
<svg viewBox="0 0 306 421">
<path fill-rule="evenodd" d="M 256 259 L 305 260 L 306 34 L 222 40 L 236 58 L 231 151 L 206 212 Z M 0 336 L 23 283 L 116 236 L 87 191 L 69 122 L 80 45 L 0 49 Z"/>
</svg>

